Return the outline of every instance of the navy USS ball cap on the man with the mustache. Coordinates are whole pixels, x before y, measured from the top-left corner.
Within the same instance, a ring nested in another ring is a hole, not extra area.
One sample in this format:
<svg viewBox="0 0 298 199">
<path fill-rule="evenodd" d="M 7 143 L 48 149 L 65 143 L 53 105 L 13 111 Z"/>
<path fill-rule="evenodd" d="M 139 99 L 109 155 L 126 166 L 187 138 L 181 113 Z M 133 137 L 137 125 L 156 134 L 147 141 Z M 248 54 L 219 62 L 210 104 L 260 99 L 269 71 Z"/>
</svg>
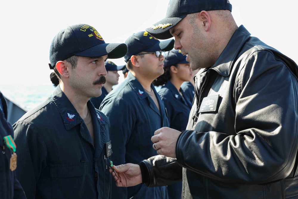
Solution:
<svg viewBox="0 0 298 199">
<path fill-rule="evenodd" d="M 123 57 L 127 52 L 126 44 L 106 44 L 97 30 L 87 24 L 75 24 L 61 30 L 50 46 L 50 68 L 58 61 L 73 55 L 82 57 L 100 57 L 108 55 L 110 59 Z"/>
</svg>

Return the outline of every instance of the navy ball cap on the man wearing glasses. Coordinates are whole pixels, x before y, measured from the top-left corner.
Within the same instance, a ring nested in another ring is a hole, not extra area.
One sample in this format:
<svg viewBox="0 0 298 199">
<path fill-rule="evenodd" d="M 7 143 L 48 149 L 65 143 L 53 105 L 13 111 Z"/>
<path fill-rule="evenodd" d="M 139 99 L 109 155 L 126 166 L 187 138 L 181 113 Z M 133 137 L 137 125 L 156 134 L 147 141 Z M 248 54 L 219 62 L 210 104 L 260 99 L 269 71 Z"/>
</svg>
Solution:
<svg viewBox="0 0 298 199">
<path fill-rule="evenodd" d="M 159 50 L 169 51 L 173 49 L 174 43 L 174 39 L 159 41 L 146 31 L 134 33 L 125 41 L 128 50 L 124 59 L 127 62 L 132 55 L 136 55 L 141 52 L 155 52 Z"/>
</svg>

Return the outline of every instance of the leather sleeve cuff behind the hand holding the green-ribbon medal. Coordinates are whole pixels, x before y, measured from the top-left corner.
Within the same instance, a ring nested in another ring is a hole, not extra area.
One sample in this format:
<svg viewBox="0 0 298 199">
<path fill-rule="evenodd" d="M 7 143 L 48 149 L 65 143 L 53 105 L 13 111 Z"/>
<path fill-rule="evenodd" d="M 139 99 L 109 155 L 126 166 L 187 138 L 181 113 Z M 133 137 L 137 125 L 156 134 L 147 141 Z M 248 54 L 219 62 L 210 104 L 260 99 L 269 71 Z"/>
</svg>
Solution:
<svg viewBox="0 0 298 199">
<path fill-rule="evenodd" d="M 148 176 L 146 186 L 165 186 L 181 181 L 182 167 L 176 158 L 168 158 L 164 155 L 156 155 L 143 160 L 147 170 L 142 175 Z"/>
</svg>

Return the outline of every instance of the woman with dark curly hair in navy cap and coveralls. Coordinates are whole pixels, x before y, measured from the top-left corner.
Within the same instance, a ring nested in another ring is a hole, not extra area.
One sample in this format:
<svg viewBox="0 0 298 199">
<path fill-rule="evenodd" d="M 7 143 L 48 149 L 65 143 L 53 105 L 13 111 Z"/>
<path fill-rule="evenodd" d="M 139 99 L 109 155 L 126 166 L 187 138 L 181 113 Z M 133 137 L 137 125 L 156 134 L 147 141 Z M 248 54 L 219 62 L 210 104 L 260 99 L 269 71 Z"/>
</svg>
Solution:
<svg viewBox="0 0 298 199">
<path fill-rule="evenodd" d="M 180 50 L 171 50 L 164 56 L 164 74 L 153 81 L 154 86 L 162 86 L 158 94 L 167 108 L 170 128 L 183 131 L 192 107 L 191 101 L 181 89 L 184 81 L 190 81 L 192 70 L 186 56 Z"/>
</svg>

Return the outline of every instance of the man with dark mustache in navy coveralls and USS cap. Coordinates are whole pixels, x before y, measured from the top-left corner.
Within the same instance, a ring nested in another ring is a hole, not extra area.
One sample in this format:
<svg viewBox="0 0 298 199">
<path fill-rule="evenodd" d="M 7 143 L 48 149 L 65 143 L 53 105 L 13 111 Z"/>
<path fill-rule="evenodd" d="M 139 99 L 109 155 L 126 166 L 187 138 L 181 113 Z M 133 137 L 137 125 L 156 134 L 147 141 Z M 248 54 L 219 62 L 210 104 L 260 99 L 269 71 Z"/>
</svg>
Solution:
<svg viewBox="0 0 298 199">
<path fill-rule="evenodd" d="M 106 44 L 87 24 L 68 26 L 53 38 L 49 67 L 60 83 L 13 125 L 16 174 L 27 198 L 111 198 L 110 123 L 89 99 L 102 93 L 104 62 L 126 52 L 125 44 Z"/>
</svg>

